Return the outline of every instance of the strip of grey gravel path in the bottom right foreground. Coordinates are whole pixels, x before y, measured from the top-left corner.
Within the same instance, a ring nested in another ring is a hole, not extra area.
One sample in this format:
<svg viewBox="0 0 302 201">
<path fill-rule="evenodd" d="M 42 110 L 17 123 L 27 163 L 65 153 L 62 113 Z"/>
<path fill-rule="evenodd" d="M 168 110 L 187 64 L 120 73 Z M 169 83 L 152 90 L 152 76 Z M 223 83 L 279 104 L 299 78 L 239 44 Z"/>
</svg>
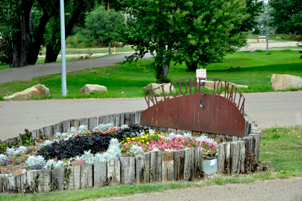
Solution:
<svg viewBox="0 0 302 201">
<path fill-rule="evenodd" d="M 214 185 L 209 187 L 180 188 L 164 192 L 140 193 L 101 200 L 302 200 L 302 177 L 256 181 L 254 183 Z"/>
</svg>

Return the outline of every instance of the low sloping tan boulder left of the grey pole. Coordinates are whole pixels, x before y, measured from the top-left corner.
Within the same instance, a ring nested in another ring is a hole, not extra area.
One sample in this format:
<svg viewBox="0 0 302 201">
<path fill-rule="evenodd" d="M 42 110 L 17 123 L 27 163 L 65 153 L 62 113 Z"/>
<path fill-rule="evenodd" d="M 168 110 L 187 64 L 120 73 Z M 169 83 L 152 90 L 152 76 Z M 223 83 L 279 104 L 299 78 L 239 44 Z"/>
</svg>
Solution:
<svg viewBox="0 0 302 201">
<path fill-rule="evenodd" d="M 17 92 L 15 94 L 12 94 L 10 96 L 5 96 L 3 97 L 3 100 L 13 100 L 13 99 L 23 99 L 23 100 L 28 100 L 32 96 L 41 96 L 45 95 L 47 97 L 50 97 L 49 89 L 45 87 L 44 85 L 37 84 L 31 88 L 28 88 L 24 91 Z"/>
</svg>

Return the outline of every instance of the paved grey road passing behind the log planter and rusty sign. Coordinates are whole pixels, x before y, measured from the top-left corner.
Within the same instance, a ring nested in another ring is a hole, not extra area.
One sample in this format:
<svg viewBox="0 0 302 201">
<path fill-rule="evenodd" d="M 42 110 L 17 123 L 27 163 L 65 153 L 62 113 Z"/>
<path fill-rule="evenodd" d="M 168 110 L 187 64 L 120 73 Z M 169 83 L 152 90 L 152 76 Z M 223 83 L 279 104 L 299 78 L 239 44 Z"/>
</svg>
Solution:
<svg viewBox="0 0 302 201">
<path fill-rule="evenodd" d="M 248 93 L 245 111 L 260 127 L 302 125 L 302 91 Z M 0 102 L 0 139 L 29 130 L 79 119 L 147 108 L 144 98 L 62 99 Z"/>
</svg>

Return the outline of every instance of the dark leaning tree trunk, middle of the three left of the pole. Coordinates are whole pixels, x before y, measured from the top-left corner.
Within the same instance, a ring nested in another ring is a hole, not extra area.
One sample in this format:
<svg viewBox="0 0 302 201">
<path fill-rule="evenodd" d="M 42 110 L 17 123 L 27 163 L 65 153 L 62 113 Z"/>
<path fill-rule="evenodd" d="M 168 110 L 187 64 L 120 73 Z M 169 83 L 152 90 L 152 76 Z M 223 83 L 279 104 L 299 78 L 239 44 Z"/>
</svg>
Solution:
<svg viewBox="0 0 302 201">
<path fill-rule="evenodd" d="M 40 18 L 39 26 L 35 29 L 34 43 L 30 46 L 30 52 L 28 55 L 28 63 L 30 65 L 34 65 L 37 62 L 40 48 L 43 43 L 45 27 L 49 19 L 50 16 L 48 15 L 47 11 L 44 11 L 43 16 Z"/>
</svg>

